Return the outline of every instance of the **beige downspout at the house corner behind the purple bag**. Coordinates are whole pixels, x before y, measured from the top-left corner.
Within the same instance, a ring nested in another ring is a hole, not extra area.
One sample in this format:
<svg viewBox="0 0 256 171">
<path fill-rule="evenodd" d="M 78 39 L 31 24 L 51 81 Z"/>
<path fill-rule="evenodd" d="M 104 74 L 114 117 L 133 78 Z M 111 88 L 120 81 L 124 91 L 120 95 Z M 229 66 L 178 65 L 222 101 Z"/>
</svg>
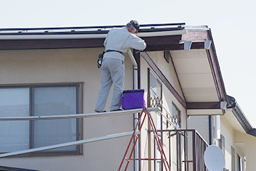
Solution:
<svg viewBox="0 0 256 171">
<path fill-rule="evenodd" d="M 138 89 L 138 82 L 137 82 L 137 62 L 135 61 L 135 58 L 133 56 L 133 53 L 131 50 L 128 51 L 128 55 L 133 63 L 133 88 Z M 139 113 L 134 113 L 133 114 L 133 122 L 134 122 L 134 127 L 137 125 L 137 119 L 139 118 Z M 138 127 L 137 130 L 138 131 Z M 138 142 L 135 144 L 135 149 L 134 149 L 134 158 L 139 158 L 139 146 Z M 138 171 L 139 170 L 139 161 L 134 161 L 134 170 Z"/>
</svg>

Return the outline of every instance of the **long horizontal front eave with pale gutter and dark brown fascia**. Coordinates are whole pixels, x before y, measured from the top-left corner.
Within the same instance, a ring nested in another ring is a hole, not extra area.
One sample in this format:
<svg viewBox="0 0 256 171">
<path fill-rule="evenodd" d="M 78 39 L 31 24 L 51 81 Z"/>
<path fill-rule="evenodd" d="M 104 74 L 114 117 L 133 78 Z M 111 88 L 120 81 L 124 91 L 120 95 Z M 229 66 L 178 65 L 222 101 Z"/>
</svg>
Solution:
<svg viewBox="0 0 256 171">
<path fill-rule="evenodd" d="M 187 34 L 183 26 L 184 23 L 142 24 L 138 36 L 146 39 L 149 47 L 179 44 L 181 35 Z M 113 27 L 123 26 L 0 29 L 0 50 L 104 47 Z"/>
</svg>

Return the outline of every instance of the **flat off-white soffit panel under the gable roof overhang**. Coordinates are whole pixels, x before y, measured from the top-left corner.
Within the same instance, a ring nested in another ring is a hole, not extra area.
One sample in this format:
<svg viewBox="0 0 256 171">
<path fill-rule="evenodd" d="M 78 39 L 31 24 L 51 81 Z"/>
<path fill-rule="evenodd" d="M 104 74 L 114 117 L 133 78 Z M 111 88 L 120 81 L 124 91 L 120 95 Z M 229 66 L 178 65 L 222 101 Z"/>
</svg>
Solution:
<svg viewBox="0 0 256 171">
<path fill-rule="evenodd" d="M 206 50 L 170 51 L 187 102 L 219 101 Z"/>
</svg>

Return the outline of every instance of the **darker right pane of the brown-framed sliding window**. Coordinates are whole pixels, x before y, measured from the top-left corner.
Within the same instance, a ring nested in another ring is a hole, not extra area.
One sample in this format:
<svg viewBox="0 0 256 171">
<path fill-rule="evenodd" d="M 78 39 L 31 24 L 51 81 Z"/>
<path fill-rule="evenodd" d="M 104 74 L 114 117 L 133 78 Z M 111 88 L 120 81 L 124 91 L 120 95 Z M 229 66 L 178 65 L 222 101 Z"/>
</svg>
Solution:
<svg viewBox="0 0 256 171">
<path fill-rule="evenodd" d="M 35 87 L 34 116 L 76 114 L 76 87 Z M 76 141 L 76 119 L 34 121 L 34 147 Z M 71 150 L 76 146 L 53 149 Z"/>
</svg>

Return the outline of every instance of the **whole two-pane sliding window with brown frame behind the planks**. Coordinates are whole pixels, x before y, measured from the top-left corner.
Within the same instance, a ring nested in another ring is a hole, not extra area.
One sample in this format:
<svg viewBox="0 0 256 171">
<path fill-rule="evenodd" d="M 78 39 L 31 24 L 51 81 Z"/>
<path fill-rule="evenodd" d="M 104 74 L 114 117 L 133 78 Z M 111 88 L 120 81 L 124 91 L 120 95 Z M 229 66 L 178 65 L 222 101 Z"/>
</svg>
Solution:
<svg viewBox="0 0 256 171">
<path fill-rule="evenodd" d="M 81 87 L 79 83 L 0 87 L 0 117 L 78 114 Z M 0 153 L 81 140 L 81 120 L 1 121 Z M 80 146 L 72 146 L 47 152 L 78 154 L 81 151 Z"/>
</svg>

